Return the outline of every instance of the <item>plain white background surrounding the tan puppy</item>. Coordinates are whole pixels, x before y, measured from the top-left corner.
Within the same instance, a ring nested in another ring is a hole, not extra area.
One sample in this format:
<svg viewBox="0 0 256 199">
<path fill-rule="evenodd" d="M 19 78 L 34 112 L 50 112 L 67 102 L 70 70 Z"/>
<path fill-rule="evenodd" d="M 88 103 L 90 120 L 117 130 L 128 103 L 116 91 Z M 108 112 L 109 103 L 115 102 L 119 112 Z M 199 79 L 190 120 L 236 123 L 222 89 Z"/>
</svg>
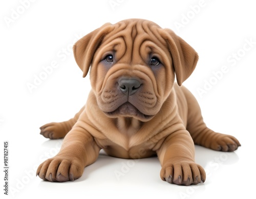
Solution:
<svg viewBox="0 0 256 199">
<path fill-rule="evenodd" d="M 3 165 L 4 141 L 7 140 L 9 196 L 254 197 L 254 1 L 113 0 L 112 3 L 117 4 L 112 6 L 110 2 L 47 0 L 28 3 L 15 0 L 0 3 L 0 162 Z M 90 91 L 89 77 L 82 78 L 73 54 L 67 49 L 104 23 L 114 24 L 125 18 L 145 18 L 170 28 L 199 53 L 197 68 L 184 85 L 198 99 L 206 124 L 237 137 L 242 144 L 230 153 L 196 146 L 196 161 L 207 171 L 204 184 L 186 187 L 161 181 L 157 158 L 134 162 L 103 153 L 74 182 L 50 183 L 35 177 L 34 168 L 42 160 L 54 156 L 61 145 L 61 140 L 48 140 L 39 135 L 39 127 L 73 117 Z M 251 42 L 251 46 L 246 42 Z M 44 72 L 43 67 L 53 61 L 58 67 L 30 91 L 27 84 L 33 84 L 35 76 Z M 221 71 L 223 65 L 226 73 L 218 73 L 217 79 L 214 73 Z M 207 87 L 205 82 L 210 81 L 214 85 Z M 200 95 L 199 88 L 206 93 Z M 118 171 L 122 173 L 119 177 Z M 1 176 L 3 196 L 4 173 Z"/>
</svg>

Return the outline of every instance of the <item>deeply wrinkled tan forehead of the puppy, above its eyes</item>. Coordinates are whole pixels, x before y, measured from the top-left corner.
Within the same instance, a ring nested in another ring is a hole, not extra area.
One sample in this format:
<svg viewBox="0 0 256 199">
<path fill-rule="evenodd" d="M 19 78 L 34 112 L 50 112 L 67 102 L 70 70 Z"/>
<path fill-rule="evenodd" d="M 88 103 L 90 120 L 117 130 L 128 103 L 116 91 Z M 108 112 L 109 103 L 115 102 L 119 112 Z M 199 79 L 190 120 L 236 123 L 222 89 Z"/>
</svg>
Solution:
<svg viewBox="0 0 256 199">
<path fill-rule="evenodd" d="M 113 30 L 101 42 L 101 54 L 114 51 L 118 52 L 118 59 L 125 54 L 128 59 L 145 60 L 148 54 L 163 54 L 163 49 L 166 49 L 166 41 L 159 34 L 161 28 L 152 21 L 130 19 L 112 26 Z"/>
</svg>

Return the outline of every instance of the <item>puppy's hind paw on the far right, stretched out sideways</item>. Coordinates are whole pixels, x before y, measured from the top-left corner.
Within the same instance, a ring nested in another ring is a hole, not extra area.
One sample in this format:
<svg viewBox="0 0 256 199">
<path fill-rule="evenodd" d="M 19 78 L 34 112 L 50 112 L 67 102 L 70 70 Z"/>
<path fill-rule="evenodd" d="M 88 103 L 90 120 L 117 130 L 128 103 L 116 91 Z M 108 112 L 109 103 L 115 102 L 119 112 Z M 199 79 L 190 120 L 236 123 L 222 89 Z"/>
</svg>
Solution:
<svg viewBox="0 0 256 199">
<path fill-rule="evenodd" d="M 220 133 L 217 133 L 210 144 L 211 149 L 219 151 L 234 151 L 237 150 L 239 146 L 241 146 L 241 144 L 235 137 Z"/>
</svg>

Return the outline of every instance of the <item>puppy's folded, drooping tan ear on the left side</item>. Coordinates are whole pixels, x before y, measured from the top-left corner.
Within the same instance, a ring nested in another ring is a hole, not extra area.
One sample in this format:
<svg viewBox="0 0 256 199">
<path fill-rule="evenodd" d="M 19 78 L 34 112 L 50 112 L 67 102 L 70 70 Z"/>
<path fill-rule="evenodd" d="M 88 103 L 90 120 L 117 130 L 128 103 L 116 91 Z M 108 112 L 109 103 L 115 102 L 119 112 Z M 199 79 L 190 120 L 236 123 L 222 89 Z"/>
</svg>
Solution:
<svg viewBox="0 0 256 199">
<path fill-rule="evenodd" d="M 112 24 L 107 23 L 86 36 L 79 39 L 73 46 L 74 57 L 77 65 L 86 77 L 93 56 L 106 34 L 112 31 Z"/>
</svg>

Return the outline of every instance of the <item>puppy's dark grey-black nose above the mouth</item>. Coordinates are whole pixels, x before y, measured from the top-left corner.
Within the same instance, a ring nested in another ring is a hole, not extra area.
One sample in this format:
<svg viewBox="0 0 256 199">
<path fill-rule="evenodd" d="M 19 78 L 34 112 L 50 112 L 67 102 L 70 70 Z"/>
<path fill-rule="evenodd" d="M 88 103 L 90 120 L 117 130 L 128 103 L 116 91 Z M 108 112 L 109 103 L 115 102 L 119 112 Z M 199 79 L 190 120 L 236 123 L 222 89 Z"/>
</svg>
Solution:
<svg viewBox="0 0 256 199">
<path fill-rule="evenodd" d="M 139 87 L 141 86 L 141 83 L 137 79 L 121 78 L 118 81 L 118 85 L 123 94 L 131 96 L 138 91 Z"/>
</svg>

